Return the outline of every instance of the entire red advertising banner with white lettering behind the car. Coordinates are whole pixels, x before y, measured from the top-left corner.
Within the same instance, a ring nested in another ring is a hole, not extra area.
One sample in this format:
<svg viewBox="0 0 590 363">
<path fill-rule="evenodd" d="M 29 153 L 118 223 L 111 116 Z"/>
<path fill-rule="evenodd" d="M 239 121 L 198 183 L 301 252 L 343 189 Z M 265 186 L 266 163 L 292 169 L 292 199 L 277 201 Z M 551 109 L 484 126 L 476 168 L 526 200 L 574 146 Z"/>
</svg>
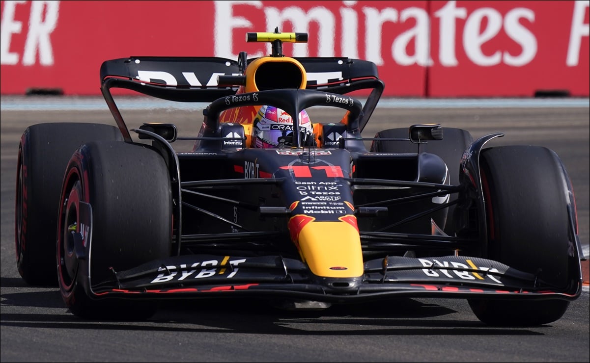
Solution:
<svg viewBox="0 0 590 363">
<path fill-rule="evenodd" d="M 99 95 L 103 61 L 270 52 L 373 61 L 390 97 L 590 95 L 590 1 L 1 1 L 0 94 Z"/>
</svg>

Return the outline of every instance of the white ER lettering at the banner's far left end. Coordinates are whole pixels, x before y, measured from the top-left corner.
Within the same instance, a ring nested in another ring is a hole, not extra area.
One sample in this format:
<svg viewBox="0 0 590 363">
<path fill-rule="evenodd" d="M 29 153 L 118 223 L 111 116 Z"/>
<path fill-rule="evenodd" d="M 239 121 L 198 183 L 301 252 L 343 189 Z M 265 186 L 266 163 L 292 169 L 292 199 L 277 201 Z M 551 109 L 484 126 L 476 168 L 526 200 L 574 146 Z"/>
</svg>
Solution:
<svg viewBox="0 0 590 363">
<path fill-rule="evenodd" d="M 18 52 L 10 51 L 12 34 L 22 31 L 22 22 L 16 21 L 15 8 L 26 1 L 5 1 L 0 24 L 0 64 L 18 64 Z M 28 21 L 27 40 L 22 54 L 22 65 L 35 65 L 37 53 L 41 65 L 53 65 L 53 48 L 50 34 L 57 26 L 59 1 L 32 1 Z"/>
</svg>

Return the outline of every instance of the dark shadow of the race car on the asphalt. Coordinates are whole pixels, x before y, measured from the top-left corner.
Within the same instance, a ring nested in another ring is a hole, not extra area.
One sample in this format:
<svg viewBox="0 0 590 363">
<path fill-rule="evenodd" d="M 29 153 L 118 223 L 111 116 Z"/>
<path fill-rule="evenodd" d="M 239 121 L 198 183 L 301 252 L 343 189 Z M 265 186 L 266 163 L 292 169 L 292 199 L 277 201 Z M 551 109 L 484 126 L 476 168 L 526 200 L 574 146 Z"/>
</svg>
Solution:
<svg viewBox="0 0 590 363">
<path fill-rule="evenodd" d="M 260 299 L 165 301 L 145 321 L 91 321 L 72 315 L 55 288 L 17 285 L 2 279 L 2 326 L 319 336 L 542 334 L 526 328 L 484 325 L 471 314 L 466 302 L 454 309 L 438 301 L 409 298 L 335 305 L 320 311 L 278 309 Z"/>
</svg>

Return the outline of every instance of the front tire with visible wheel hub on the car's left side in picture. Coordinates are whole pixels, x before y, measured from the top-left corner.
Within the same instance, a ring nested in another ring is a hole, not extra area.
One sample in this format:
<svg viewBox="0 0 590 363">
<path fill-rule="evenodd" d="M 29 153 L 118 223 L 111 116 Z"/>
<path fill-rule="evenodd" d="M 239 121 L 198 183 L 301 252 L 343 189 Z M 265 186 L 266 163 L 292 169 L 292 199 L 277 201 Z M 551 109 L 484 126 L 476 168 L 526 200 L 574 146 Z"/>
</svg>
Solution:
<svg viewBox="0 0 590 363">
<path fill-rule="evenodd" d="M 91 206 L 91 226 L 83 226 L 82 203 Z M 114 281 L 117 271 L 170 256 L 172 194 L 163 157 L 143 144 L 84 144 L 68 163 L 60 205 L 57 260 L 65 305 L 86 319 L 152 316 L 154 301 L 94 299 L 94 292 L 105 292 L 101 283 Z"/>
</svg>

